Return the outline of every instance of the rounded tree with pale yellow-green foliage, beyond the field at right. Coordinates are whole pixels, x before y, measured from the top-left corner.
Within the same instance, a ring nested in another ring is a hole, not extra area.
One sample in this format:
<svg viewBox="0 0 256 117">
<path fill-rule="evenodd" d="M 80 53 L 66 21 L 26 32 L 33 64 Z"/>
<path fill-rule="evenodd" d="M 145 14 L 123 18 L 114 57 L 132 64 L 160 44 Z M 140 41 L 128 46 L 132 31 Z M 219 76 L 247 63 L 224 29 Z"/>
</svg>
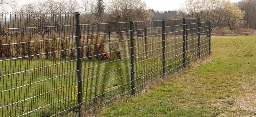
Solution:
<svg viewBox="0 0 256 117">
<path fill-rule="evenodd" d="M 237 8 L 235 4 L 227 2 L 223 12 L 225 13 L 224 20 L 231 31 L 235 31 L 238 26 L 244 24 L 245 13 Z"/>
</svg>

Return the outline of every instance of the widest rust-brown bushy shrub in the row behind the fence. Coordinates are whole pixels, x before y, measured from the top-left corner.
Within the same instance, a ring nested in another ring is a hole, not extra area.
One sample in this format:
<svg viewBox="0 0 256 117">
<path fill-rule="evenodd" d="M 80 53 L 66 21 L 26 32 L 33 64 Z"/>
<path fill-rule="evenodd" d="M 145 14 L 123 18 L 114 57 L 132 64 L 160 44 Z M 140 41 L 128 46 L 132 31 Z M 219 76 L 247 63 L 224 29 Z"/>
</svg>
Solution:
<svg viewBox="0 0 256 117">
<path fill-rule="evenodd" d="M 96 36 L 95 38 L 95 46 L 93 49 L 93 54 L 97 55 L 95 58 L 97 60 L 107 60 L 109 59 L 108 52 L 105 50 L 104 44 L 102 44 L 102 40 Z"/>
</svg>

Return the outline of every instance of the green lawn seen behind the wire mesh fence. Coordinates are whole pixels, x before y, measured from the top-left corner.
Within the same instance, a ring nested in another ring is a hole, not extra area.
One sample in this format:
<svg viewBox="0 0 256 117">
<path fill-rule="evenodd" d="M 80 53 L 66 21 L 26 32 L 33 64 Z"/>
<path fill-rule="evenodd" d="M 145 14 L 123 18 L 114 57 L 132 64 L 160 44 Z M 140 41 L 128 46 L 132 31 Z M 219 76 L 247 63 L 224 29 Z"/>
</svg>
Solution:
<svg viewBox="0 0 256 117">
<path fill-rule="evenodd" d="M 172 74 L 179 71 L 182 66 L 182 38 L 166 37 L 166 71 Z M 195 37 L 188 37 L 189 39 Z M 207 38 L 201 38 L 203 41 Z M 156 78 L 162 74 L 162 38 L 148 38 L 148 53 L 145 57 L 145 40 L 138 38 L 134 41 L 135 53 L 135 87 L 136 91 L 141 89 L 141 84 Z M 197 38 L 188 41 L 188 50 L 197 47 Z M 207 47 L 207 41 L 203 41 L 201 49 Z M 141 45 L 141 46 L 140 46 Z M 83 60 L 82 61 L 82 95 L 84 109 L 96 107 L 95 98 L 101 94 L 101 102 L 106 102 L 124 92 L 131 94 L 131 66 L 130 63 L 130 40 L 120 43 L 121 48 L 128 48 L 122 51 L 122 60 L 116 60 L 111 56 L 110 60 Z M 105 44 L 108 50 L 108 44 Z M 43 50 L 41 50 L 43 51 Z M 193 54 L 197 49 L 187 53 L 190 60 L 197 55 Z M 207 50 L 200 53 L 203 54 Z M 141 53 L 141 54 L 139 54 Z M 60 55 L 60 53 L 57 53 Z M 179 55 L 175 56 L 174 55 Z M 207 54 L 204 54 L 206 56 Z M 60 58 L 60 57 L 57 57 Z M 1 60 L 3 60 L 1 58 Z M 196 59 L 194 59 L 196 60 Z M 0 64 L 1 74 L 1 98 L 0 106 L 16 104 L 0 109 L 0 116 L 17 116 L 29 113 L 27 116 L 42 116 L 45 113 L 64 113 L 76 111 L 71 108 L 77 105 L 77 66 L 76 60 L 71 59 L 13 59 L 4 60 Z M 8 75 L 11 74 L 11 75 Z M 6 76 L 3 76 L 6 75 Z M 107 83 L 106 83 L 107 82 Z M 43 107 L 43 108 L 42 108 Z M 44 113 L 44 114 L 43 114 Z M 37 114 L 37 115 L 36 115 Z"/>
</svg>

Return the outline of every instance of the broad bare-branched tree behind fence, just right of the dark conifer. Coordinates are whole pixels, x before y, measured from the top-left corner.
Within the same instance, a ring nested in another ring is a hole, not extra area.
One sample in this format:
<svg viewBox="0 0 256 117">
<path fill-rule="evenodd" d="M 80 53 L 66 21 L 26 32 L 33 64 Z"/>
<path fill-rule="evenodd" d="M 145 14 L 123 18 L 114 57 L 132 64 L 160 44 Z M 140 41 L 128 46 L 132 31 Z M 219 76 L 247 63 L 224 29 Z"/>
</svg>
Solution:
<svg viewBox="0 0 256 117">
<path fill-rule="evenodd" d="M 107 5 L 108 22 L 128 22 L 131 20 L 151 20 L 153 13 L 146 9 L 141 0 L 110 0 Z M 111 24 L 123 40 L 123 32 L 128 30 L 129 23 Z"/>
</svg>

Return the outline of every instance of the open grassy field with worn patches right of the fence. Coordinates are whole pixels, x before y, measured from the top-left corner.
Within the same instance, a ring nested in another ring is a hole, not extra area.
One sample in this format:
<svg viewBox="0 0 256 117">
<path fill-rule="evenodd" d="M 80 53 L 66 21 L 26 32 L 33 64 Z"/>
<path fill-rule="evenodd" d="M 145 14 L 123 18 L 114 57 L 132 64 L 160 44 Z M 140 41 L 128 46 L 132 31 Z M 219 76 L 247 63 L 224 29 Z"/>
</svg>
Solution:
<svg viewBox="0 0 256 117">
<path fill-rule="evenodd" d="M 212 36 L 212 58 L 100 116 L 255 116 L 256 37 Z"/>
</svg>

